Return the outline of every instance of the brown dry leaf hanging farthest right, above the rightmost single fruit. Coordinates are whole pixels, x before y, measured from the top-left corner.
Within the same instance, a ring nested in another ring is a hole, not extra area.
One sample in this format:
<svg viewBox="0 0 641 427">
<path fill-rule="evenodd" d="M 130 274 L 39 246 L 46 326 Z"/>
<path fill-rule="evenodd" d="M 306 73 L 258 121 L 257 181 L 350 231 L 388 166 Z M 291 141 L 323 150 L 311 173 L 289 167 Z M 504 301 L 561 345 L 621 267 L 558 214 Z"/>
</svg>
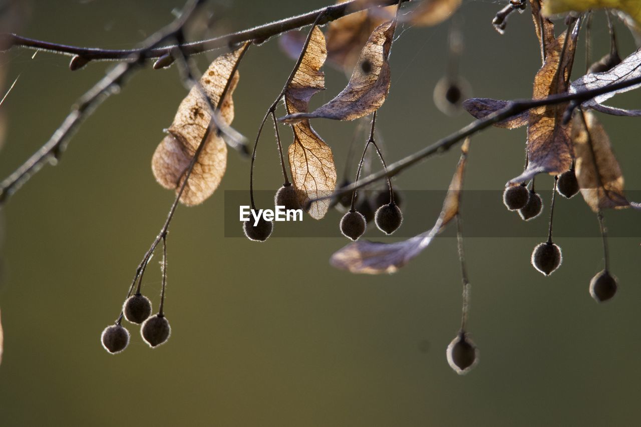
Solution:
<svg viewBox="0 0 641 427">
<path fill-rule="evenodd" d="M 581 196 L 594 212 L 606 208 L 627 208 L 630 203 L 623 193 L 623 175 L 612 153 L 610 138 L 594 113 L 583 114 L 585 123 L 580 111 L 574 115 L 572 123 L 575 173 Z"/>
</svg>

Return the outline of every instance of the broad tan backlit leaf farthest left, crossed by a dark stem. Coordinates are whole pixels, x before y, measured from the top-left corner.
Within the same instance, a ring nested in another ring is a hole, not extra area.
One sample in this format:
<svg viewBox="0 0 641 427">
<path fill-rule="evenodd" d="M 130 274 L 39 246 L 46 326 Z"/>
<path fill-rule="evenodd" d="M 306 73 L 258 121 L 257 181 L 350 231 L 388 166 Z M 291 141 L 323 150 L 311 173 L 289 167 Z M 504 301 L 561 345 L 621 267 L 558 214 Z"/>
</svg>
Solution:
<svg viewBox="0 0 641 427">
<path fill-rule="evenodd" d="M 192 87 L 187 97 L 178 106 L 178 112 L 167 136 L 158 144 L 153 155 L 151 168 L 158 183 L 178 192 L 197 147 L 207 128 L 212 126 L 203 151 L 180 197 L 181 203 L 187 206 L 203 203 L 218 188 L 225 173 L 227 146 L 219 129 L 212 122 L 210 103 L 218 106 L 217 122 L 229 126 L 234 118 L 231 95 L 238 83 L 238 71 L 234 72 L 233 76 L 232 72 L 236 69 L 236 64 L 246 46 L 213 60 L 200 80 L 200 85 L 209 101 L 204 98 L 198 87 Z M 231 81 L 227 95 L 220 102 L 222 91 L 229 80 Z"/>
</svg>

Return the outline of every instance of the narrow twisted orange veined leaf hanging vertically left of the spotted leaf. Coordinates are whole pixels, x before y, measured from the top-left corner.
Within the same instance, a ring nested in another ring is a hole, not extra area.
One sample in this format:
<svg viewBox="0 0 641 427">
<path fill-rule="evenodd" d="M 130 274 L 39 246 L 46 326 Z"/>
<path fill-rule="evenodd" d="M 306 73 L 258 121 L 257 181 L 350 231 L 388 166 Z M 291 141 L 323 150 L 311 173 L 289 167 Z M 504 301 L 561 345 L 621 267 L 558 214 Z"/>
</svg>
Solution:
<svg viewBox="0 0 641 427">
<path fill-rule="evenodd" d="M 310 99 L 325 87 L 325 76 L 320 68 L 327 57 L 325 37 L 317 27 L 303 54 L 301 65 L 285 89 L 285 106 L 288 113 L 306 112 Z M 289 166 L 292 181 L 301 206 L 310 199 L 329 196 L 336 187 L 336 167 L 331 149 L 312 129 L 309 120 L 292 124 L 294 142 L 289 146 Z M 329 200 L 315 201 L 308 212 L 314 219 L 321 219 L 329 209 Z"/>
</svg>

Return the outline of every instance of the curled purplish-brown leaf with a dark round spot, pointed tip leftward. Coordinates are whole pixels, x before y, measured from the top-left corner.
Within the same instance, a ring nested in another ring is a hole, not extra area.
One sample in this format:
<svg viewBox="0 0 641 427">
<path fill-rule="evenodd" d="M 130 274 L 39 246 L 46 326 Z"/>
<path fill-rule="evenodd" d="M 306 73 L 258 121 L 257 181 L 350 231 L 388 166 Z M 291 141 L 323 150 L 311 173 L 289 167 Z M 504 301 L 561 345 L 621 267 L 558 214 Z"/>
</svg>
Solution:
<svg viewBox="0 0 641 427">
<path fill-rule="evenodd" d="M 311 113 L 290 113 L 285 122 L 324 117 L 354 120 L 372 113 L 383 105 L 390 89 L 390 65 L 387 57 L 392 46 L 395 21 L 385 22 L 374 30 L 358 58 L 358 65 L 340 94 Z"/>
</svg>

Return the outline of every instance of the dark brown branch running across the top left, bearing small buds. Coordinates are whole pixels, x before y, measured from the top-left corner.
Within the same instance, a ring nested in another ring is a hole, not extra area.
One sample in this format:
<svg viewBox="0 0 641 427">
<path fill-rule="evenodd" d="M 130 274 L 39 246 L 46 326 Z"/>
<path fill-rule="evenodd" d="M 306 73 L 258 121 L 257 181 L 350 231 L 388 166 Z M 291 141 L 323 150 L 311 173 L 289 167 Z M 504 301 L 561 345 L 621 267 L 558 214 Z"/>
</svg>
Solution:
<svg viewBox="0 0 641 427">
<path fill-rule="evenodd" d="M 405 1 L 411 0 L 401 0 L 401 3 Z M 399 0 L 381 0 L 379 2 L 351 0 L 346 1 L 345 3 L 313 10 L 312 12 L 307 12 L 303 15 L 281 19 L 280 21 L 270 22 L 269 24 L 263 24 L 244 31 L 238 31 L 237 33 L 230 33 L 220 37 L 210 38 L 208 40 L 200 40 L 198 42 L 190 42 L 180 45 L 163 47 L 154 46 L 153 49 L 141 47 L 138 49 L 119 50 L 99 49 L 97 47 L 68 46 L 64 44 L 35 40 L 33 38 L 22 37 L 10 33 L 3 33 L 0 35 L 0 44 L 2 48 L 5 49 L 16 46 L 25 47 L 27 49 L 44 50 L 58 54 L 75 55 L 81 58 L 81 60 L 87 62 L 96 60 L 126 60 L 131 58 L 132 55 L 138 55 L 142 58 L 160 58 L 161 56 L 171 54 L 172 49 L 176 48 L 181 49 L 185 56 L 190 56 L 193 54 L 213 51 L 215 49 L 221 49 L 221 47 L 229 48 L 237 46 L 244 42 L 262 43 L 275 35 L 284 33 L 285 31 L 313 24 L 320 13 L 325 14 L 318 24 L 324 25 L 328 22 L 344 17 L 345 15 L 350 15 L 351 13 L 375 7 L 391 6 L 392 4 L 397 3 L 399 3 Z M 171 61 L 169 63 L 171 63 Z M 82 65 L 85 64 L 83 63 Z"/>
</svg>

